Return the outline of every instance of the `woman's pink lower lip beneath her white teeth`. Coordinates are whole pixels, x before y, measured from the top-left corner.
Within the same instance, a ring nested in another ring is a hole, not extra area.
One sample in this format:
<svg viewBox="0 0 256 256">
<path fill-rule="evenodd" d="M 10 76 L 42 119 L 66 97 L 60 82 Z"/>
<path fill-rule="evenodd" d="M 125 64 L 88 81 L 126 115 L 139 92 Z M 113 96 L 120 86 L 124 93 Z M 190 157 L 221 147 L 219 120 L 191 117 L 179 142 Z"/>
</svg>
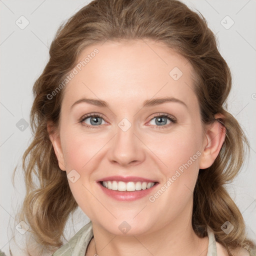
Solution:
<svg viewBox="0 0 256 256">
<path fill-rule="evenodd" d="M 104 187 L 100 184 L 100 182 L 97 182 L 97 184 L 100 186 L 102 191 L 107 194 L 108 196 L 114 198 L 118 201 L 132 201 L 140 199 L 146 195 L 148 195 L 152 190 L 159 184 L 155 183 L 152 187 L 147 189 L 141 189 L 141 190 L 135 190 L 135 191 L 118 191 L 118 190 L 112 190 Z"/>
</svg>

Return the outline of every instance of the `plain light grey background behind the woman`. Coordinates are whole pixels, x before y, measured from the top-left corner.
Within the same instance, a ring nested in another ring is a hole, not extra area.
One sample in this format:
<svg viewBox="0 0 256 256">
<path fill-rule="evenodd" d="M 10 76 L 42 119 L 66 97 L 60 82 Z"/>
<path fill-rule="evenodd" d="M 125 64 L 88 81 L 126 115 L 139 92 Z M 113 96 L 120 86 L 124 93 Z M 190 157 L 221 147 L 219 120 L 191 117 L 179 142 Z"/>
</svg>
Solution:
<svg viewBox="0 0 256 256">
<path fill-rule="evenodd" d="M 26 122 L 29 122 L 33 100 L 32 85 L 47 63 L 48 47 L 60 23 L 89 1 L 0 0 L 0 249 L 6 255 L 9 255 L 9 244 L 14 241 L 13 235 L 17 240 L 24 237 L 15 231 L 17 223 L 14 215 L 24 196 L 20 164 L 22 153 L 31 139 Z M 219 50 L 232 71 L 233 87 L 228 98 L 228 110 L 242 125 L 250 141 L 250 154 L 240 174 L 227 185 L 227 189 L 242 212 L 248 236 L 255 240 L 256 1 L 183 2 L 204 15 L 209 27 L 217 35 Z M 20 17 L 22 15 L 25 18 Z M 25 22 L 29 24 L 23 28 Z M 16 164 L 18 170 L 14 188 L 11 175 Z M 68 222 L 66 238 L 87 221 L 86 216 L 78 210 L 73 223 Z M 22 246 L 21 242 L 18 243 Z"/>
</svg>

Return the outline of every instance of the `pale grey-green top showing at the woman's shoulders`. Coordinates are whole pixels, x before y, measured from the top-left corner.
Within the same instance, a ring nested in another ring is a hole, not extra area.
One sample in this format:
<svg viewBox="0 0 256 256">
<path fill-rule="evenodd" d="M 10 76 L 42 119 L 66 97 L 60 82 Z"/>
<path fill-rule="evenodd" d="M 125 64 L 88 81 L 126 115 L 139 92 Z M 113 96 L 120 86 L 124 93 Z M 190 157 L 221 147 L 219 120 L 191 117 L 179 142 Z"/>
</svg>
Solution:
<svg viewBox="0 0 256 256">
<path fill-rule="evenodd" d="M 209 237 L 207 256 L 217 256 L 214 233 L 209 227 L 207 233 Z M 57 249 L 52 256 L 84 256 L 92 237 L 92 223 L 89 221 L 66 244 Z"/>
</svg>

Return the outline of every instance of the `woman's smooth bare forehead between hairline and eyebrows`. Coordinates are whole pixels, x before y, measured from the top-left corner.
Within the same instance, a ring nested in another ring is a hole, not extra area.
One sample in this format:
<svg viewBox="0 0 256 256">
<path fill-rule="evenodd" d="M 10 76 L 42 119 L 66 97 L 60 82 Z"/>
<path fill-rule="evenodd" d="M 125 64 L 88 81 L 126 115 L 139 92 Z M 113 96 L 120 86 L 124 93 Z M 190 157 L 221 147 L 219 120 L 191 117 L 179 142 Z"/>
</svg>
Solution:
<svg viewBox="0 0 256 256">
<path fill-rule="evenodd" d="M 82 96 L 141 103 L 160 96 L 193 103 L 193 68 L 190 62 L 153 40 L 106 41 L 84 48 L 75 75 L 64 88 L 63 102 Z M 74 70 L 73 69 L 73 70 Z"/>
</svg>

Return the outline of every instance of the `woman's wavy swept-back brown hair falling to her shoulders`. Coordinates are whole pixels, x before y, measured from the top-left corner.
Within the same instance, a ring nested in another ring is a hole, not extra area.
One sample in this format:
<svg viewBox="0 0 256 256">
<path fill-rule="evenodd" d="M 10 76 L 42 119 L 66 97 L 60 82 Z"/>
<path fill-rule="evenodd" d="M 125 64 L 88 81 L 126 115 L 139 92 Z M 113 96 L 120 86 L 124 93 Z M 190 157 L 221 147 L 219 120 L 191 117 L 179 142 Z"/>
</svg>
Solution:
<svg viewBox="0 0 256 256">
<path fill-rule="evenodd" d="M 190 61 L 196 72 L 195 92 L 204 124 L 216 113 L 223 115 L 219 121 L 226 128 L 224 143 L 214 163 L 199 170 L 194 188 L 194 231 L 203 237 L 209 226 L 229 255 L 237 246 L 251 251 L 254 245 L 245 237 L 242 215 L 224 187 L 242 165 L 244 142 L 248 145 L 238 122 L 225 110 L 230 70 L 204 17 L 177 0 L 94 0 L 59 27 L 50 45 L 49 61 L 33 86 L 33 140 L 23 155 L 26 195 L 20 219 L 30 225 L 39 244 L 51 249 L 62 245 L 65 223 L 77 203 L 66 173 L 58 166 L 46 127 L 47 121 L 58 127 L 63 89 L 52 99 L 47 95 L 72 70 L 84 47 L 106 40 L 141 38 L 163 42 Z M 226 220 L 234 226 L 228 234 L 221 230 Z"/>
</svg>

